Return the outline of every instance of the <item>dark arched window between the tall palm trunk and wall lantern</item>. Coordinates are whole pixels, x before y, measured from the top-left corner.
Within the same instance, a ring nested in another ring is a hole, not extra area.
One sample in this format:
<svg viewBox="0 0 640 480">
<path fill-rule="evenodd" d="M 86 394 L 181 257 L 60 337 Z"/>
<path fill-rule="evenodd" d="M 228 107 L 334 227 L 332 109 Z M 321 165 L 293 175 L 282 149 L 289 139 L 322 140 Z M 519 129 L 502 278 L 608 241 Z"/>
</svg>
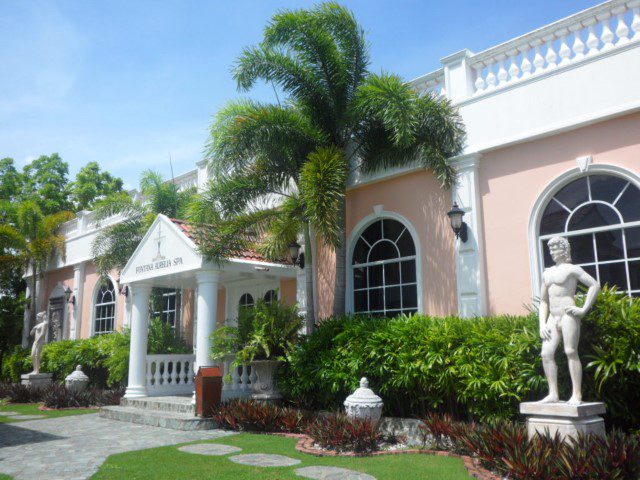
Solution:
<svg viewBox="0 0 640 480">
<path fill-rule="evenodd" d="M 397 220 L 378 220 L 356 241 L 351 263 L 356 313 L 393 316 L 418 310 L 416 247 Z"/>
</svg>

